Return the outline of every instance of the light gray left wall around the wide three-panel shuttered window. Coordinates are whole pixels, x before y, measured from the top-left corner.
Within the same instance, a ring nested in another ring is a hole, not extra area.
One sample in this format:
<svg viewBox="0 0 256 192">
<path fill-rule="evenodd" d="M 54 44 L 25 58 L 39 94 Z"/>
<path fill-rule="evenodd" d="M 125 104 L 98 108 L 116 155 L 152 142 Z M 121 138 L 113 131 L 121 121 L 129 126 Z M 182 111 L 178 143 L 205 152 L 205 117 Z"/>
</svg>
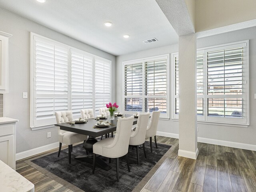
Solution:
<svg viewBox="0 0 256 192">
<path fill-rule="evenodd" d="M 9 93 L 4 94 L 4 116 L 18 119 L 16 153 L 57 142 L 57 128 L 32 131 L 30 128 L 30 32 L 40 34 L 80 50 L 112 60 L 112 100 L 116 97 L 116 56 L 50 30 L 40 24 L 0 8 L 0 31 L 9 38 Z M 51 132 L 51 138 L 46 133 Z"/>
</svg>

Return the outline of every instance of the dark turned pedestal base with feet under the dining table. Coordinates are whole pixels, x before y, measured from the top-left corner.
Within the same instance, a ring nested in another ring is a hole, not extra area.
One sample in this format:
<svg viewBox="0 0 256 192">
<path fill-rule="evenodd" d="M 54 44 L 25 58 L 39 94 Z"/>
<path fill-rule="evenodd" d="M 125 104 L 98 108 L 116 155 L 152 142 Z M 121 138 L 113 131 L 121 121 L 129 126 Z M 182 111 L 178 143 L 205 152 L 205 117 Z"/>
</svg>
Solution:
<svg viewBox="0 0 256 192">
<path fill-rule="evenodd" d="M 96 142 L 98 142 L 98 141 L 96 140 L 95 137 L 89 136 L 88 139 L 84 142 L 84 148 L 86 151 L 88 151 L 88 155 L 76 156 L 75 159 L 93 164 L 93 148 L 92 148 L 92 146 Z M 95 164 L 99 168 L 106 170 L 106 171 L 111 169 L 111 167 L 108 164 L 106 164 L 104 161 L 102 161 L 98 157 L 96 157 L 96 159 L 95 159 Z"/>
</svg>

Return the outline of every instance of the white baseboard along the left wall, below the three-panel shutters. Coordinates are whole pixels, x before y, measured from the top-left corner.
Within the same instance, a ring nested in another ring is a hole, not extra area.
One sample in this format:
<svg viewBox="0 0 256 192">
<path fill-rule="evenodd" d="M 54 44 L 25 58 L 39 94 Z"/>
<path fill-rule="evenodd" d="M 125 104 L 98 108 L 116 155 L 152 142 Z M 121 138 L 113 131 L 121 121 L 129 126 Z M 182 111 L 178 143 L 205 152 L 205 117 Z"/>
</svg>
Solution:
<svg viewBox="0 0 256 192">
<path fill-rule="evenodd" d="M 30 150 L 23 151 L 23 152 L 20 152 L 20 153 L 16 153 L 16 161 L 20 160 L 20 159 L 23 159 L 23 158 L 33 156 L 33 155 L 36 155 L 36 154 L 39 154 L 39 153 L 42 153 L 42 152 L 46 152 L 48 150 L 58 148 L 59 144 L 60 144 L 60 142 L 55 142 L 55 143 L 51 143 L 51 144 L 41 146 L 41 147 L 38 147 L 38 148 L 34 148 L 34 149 L 30 149 Z"/>
</svg>

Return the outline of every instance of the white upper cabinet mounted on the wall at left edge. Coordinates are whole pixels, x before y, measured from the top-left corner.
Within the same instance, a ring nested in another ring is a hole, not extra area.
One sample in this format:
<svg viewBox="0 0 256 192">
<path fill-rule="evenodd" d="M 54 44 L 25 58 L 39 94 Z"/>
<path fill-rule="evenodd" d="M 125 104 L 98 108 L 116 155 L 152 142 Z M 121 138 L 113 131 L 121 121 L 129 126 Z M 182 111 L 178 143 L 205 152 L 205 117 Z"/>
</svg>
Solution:
<svg viewBox="0 0 256 192">
<path fill-rule="evenodd" d="M 0 93 L 8 93 L 8 38 L 11 34 L 0 31 Z"/>
</svg>

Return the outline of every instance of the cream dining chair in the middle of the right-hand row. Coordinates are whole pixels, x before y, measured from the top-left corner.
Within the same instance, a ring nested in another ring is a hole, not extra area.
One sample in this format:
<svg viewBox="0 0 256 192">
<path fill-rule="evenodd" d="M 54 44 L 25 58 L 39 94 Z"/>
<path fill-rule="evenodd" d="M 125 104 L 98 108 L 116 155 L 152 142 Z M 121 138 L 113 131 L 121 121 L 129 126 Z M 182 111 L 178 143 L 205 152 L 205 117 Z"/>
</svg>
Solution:
<svg viewBox="0 0 256 192">
<path fill-rule="evenodd" d="M 139 145 L 143 145 L 144 155 L 145 155 L 145 158 L 147 158 L 146 151 L 145 151 L 145 136 L 146 136 L 146 130 L 148 126 L 149 116 L 150 116 L 150 113 L 139 114 L 137 127 L 135 131 L 132 130 L 132 133 L 130 136 L 129 145 L 136 146 L 138 164 L 140 163 Z"/>
</svg>

